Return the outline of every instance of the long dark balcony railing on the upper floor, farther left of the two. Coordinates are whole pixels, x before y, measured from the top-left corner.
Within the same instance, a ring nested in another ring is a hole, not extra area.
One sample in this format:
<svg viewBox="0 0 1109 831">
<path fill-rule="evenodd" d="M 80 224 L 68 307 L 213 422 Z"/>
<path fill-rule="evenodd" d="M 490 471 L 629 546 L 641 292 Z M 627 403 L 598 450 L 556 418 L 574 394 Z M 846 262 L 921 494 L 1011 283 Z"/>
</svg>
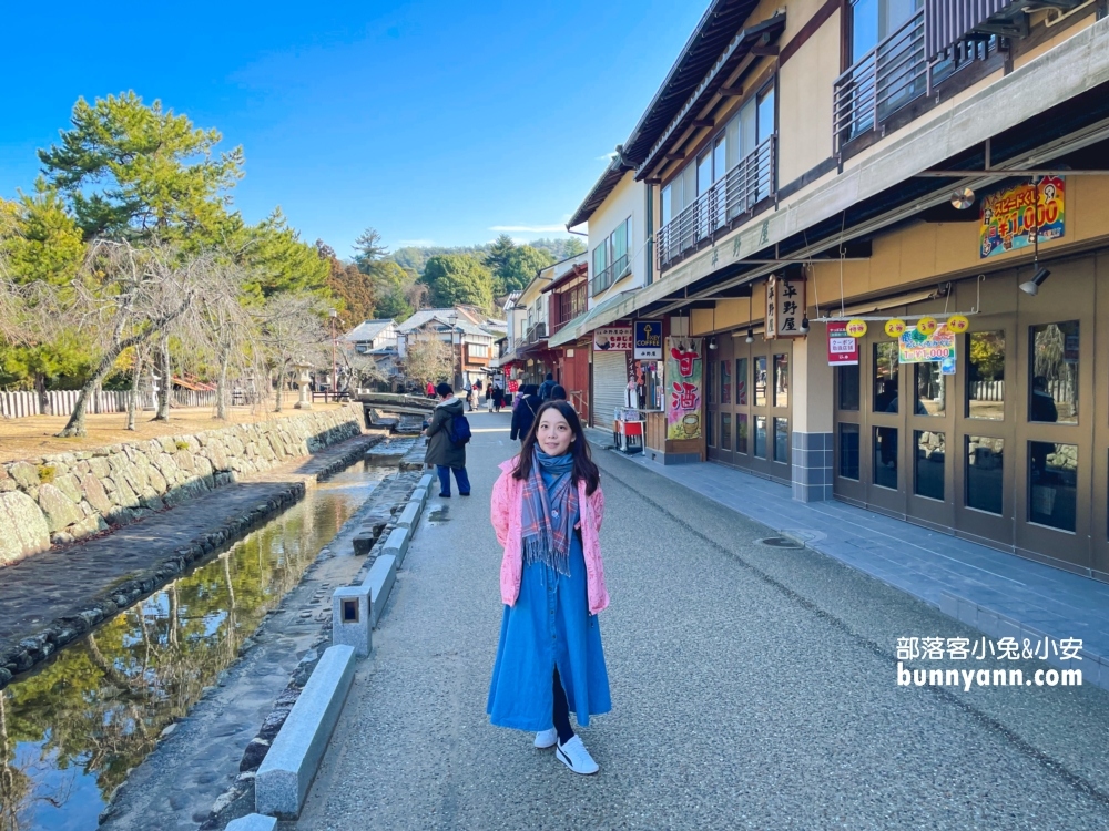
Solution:
<svg viewBox="0 0 1109 831">
<path fill-rule="evenodd" d="M 769 136 L 712 187 L 659 228 L 659 270 L 776 191 L 777 136 Z"/>
</svg>

